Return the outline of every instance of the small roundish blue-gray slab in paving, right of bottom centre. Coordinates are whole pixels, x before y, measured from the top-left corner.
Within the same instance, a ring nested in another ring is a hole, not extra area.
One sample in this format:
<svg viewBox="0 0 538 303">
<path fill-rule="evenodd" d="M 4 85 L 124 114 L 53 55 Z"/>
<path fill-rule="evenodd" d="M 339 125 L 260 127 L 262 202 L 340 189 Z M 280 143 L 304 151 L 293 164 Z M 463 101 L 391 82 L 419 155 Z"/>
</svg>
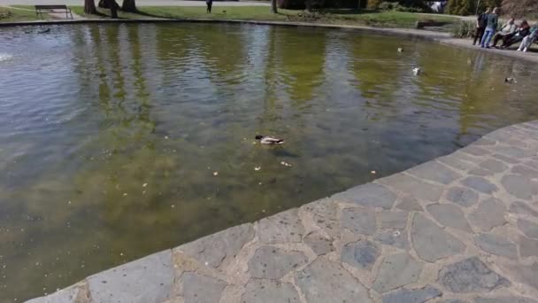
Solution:
<svg viewBox="0 0 538 303">
<path fill-rule="evenodd" d="M 380 248 L 368 240 L 343 245 L 342 262 L 350 264 L 355 268 L 370 270 L 380 256 Z"/>
</svg>

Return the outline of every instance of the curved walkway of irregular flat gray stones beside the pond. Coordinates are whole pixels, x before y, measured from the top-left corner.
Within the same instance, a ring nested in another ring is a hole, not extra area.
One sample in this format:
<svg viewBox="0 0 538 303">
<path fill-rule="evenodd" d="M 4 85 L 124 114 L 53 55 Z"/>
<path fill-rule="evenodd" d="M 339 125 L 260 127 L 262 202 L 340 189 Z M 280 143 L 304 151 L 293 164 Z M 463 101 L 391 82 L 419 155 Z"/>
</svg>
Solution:
<svg viewBox="0 0 538 303">
<path fill-rule="evenodd" d="M 31 302 L 538 303 L 538 121 Z"/>
</svg>

